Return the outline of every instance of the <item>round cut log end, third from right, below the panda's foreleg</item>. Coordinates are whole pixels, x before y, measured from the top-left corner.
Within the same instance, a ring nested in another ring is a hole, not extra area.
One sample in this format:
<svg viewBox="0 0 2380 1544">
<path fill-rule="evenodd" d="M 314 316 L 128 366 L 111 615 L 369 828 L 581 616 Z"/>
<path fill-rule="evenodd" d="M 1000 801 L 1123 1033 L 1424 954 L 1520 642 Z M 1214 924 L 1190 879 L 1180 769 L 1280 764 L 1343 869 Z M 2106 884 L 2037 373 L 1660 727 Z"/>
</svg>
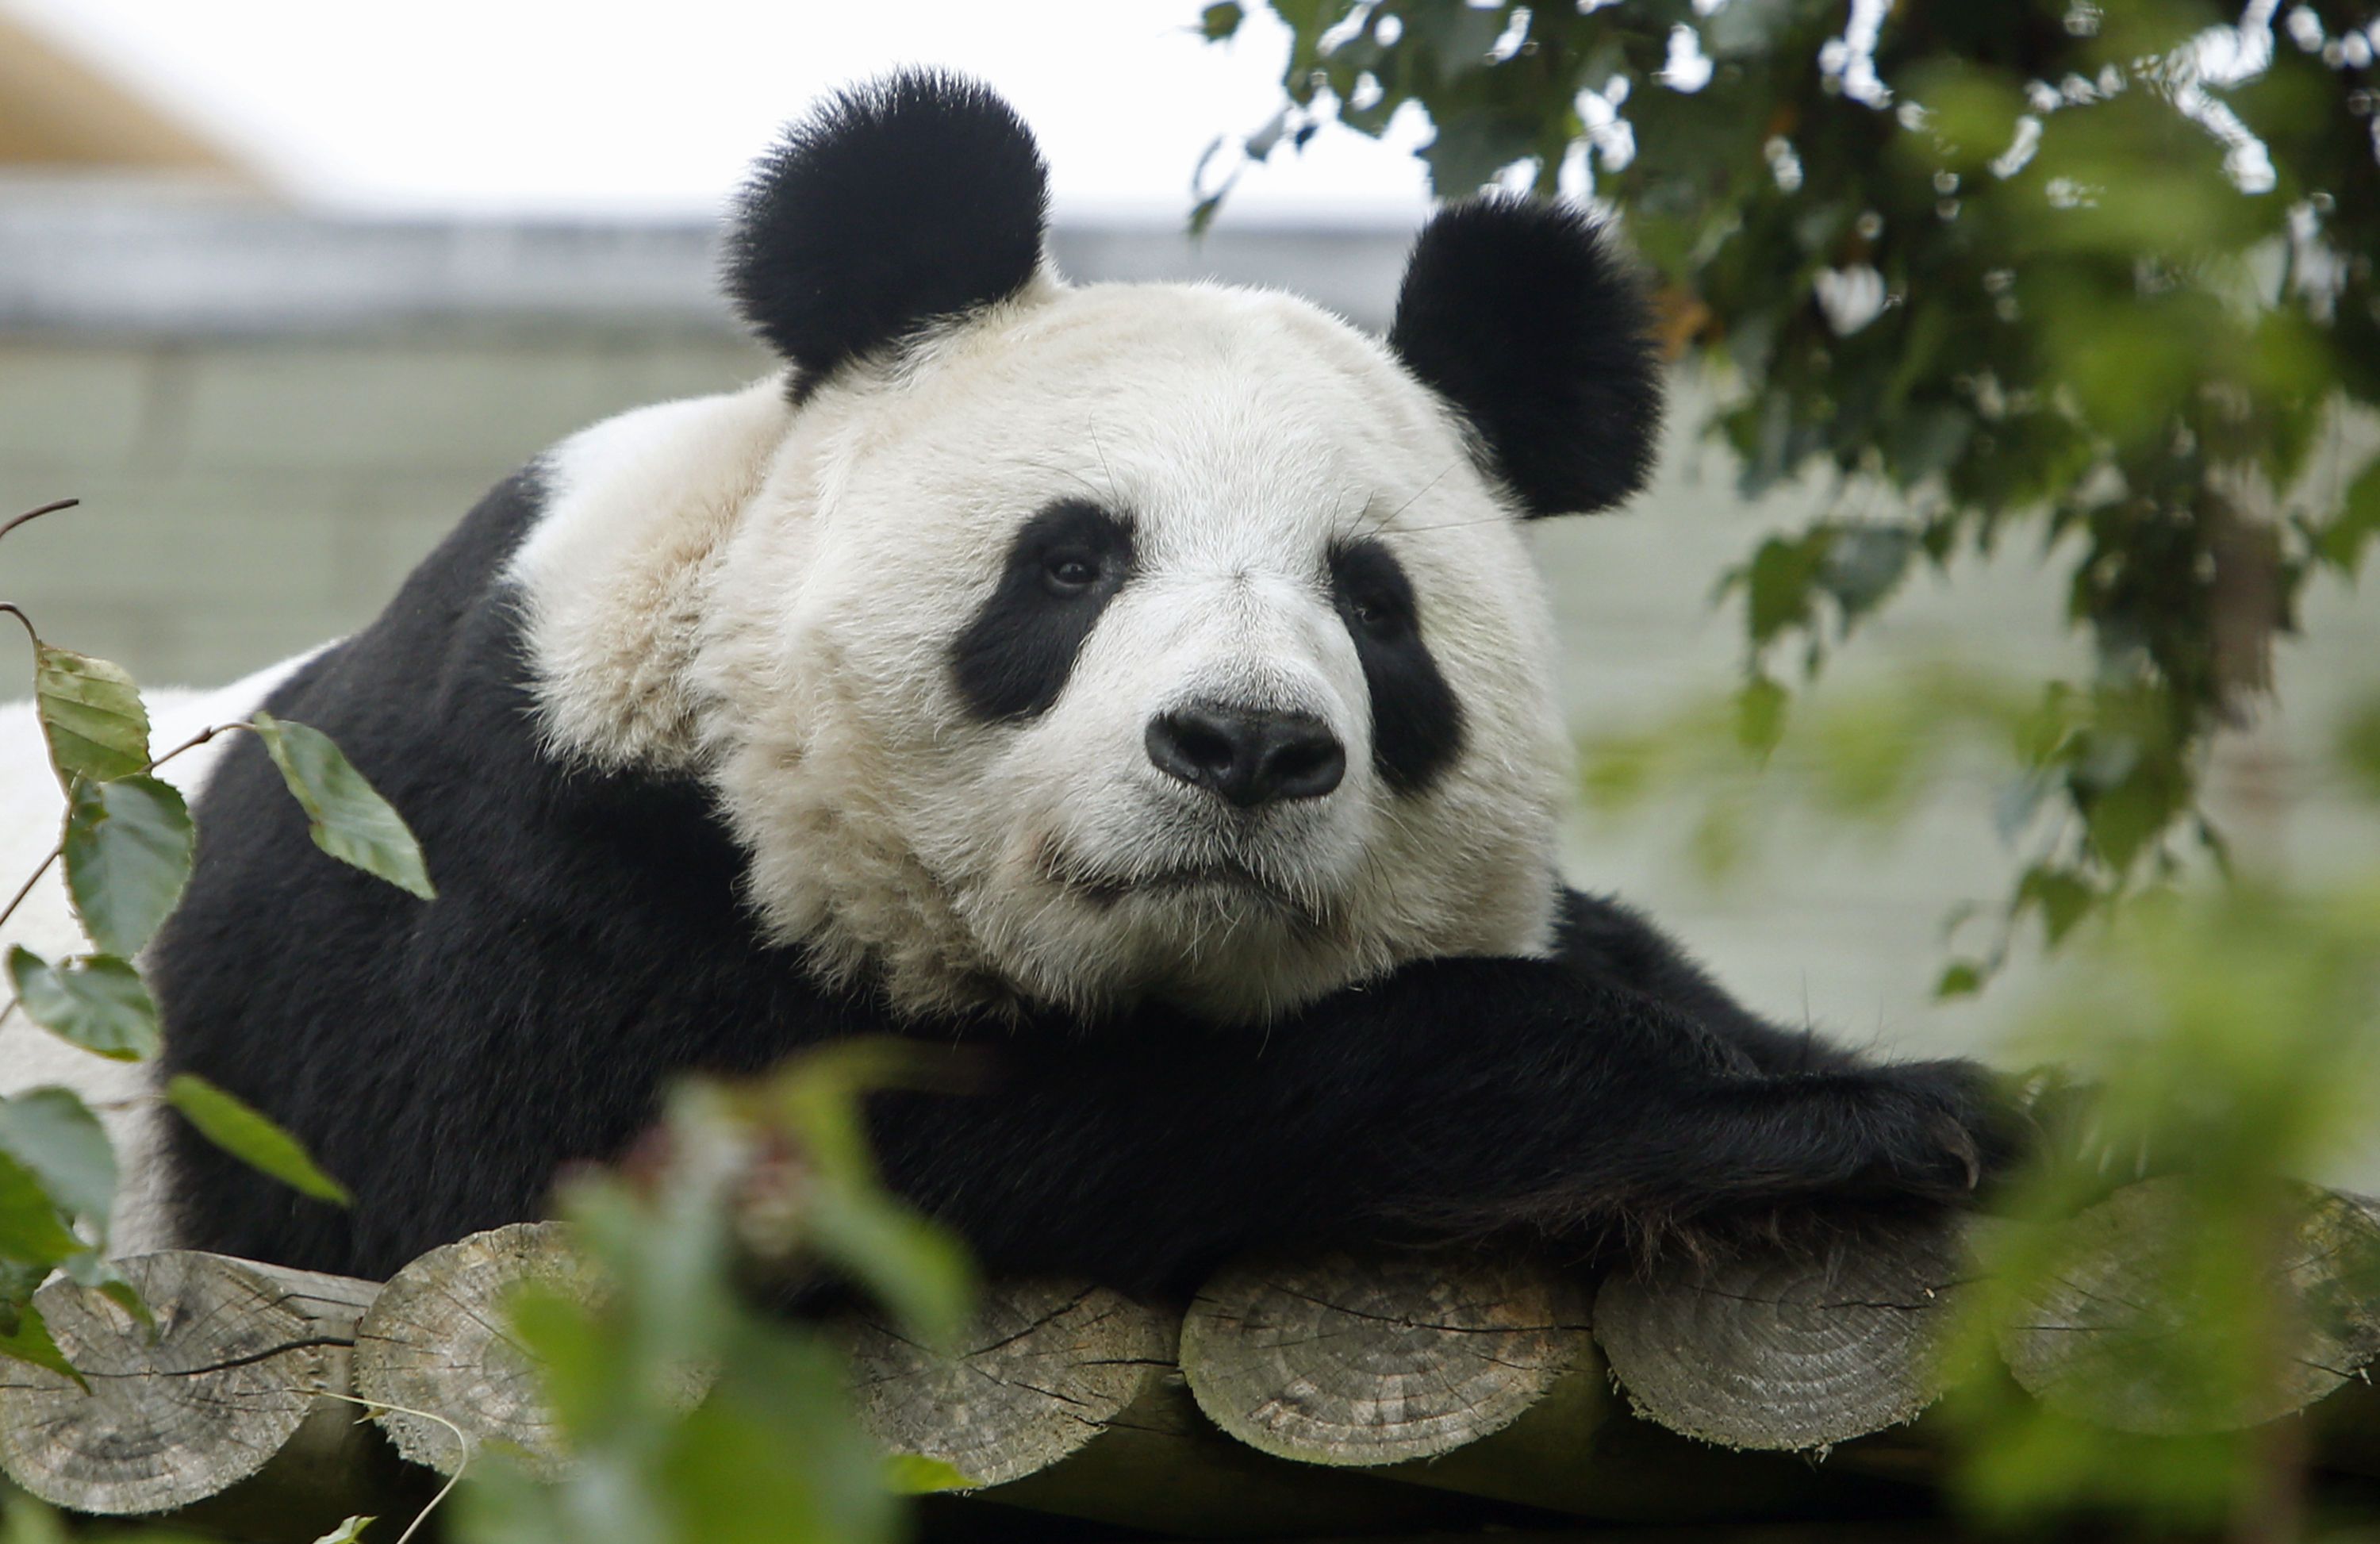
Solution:
<svg viewBox="0 0 2380 1544">
<path fill-rule="evenodd" d="M 1428 1458 L 1509 1425 L 1585 1349 L 1585 1304 L 1526 1261 L 1240 1266 L 1183 1320 L 1207 1418 L 1302 1463 Z"/>
</svg>

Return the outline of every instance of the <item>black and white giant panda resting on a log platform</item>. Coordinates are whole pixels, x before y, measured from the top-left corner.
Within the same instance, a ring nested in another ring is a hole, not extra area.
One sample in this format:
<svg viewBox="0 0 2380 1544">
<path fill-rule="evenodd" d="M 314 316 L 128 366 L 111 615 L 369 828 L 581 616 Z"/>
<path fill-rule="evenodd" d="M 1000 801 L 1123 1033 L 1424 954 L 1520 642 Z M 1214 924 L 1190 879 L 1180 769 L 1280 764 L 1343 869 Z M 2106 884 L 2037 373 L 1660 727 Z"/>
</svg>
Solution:
<svg viewBox="0 0 2380 1544">
<path fill-rule="evenodd" d="M 1447 207 L 1385 340 L 1069 285 L 1016 114 L 907 71 L 759 164 L 726 283 L 778 374 L 562 443 L 369 628 L 176 709 L 331 733 L 438 899 L 321 856 L 248 738 L 193 778 L 162 1068 L 355 1206 L 133 1101 L 143 1242 L 383 1278 L 681 1073 L 876 1033 L 985 1068 L 871 1101 L 888 1182 L 992 1270 L 1126 1289 L 1942 1206 L 2006 1159 L 1973 1063 L 1773 1028 L 1557 873 L 1521 526 L 1630 495 L 1659 416 L 1587 216 Z"/>
</svg>

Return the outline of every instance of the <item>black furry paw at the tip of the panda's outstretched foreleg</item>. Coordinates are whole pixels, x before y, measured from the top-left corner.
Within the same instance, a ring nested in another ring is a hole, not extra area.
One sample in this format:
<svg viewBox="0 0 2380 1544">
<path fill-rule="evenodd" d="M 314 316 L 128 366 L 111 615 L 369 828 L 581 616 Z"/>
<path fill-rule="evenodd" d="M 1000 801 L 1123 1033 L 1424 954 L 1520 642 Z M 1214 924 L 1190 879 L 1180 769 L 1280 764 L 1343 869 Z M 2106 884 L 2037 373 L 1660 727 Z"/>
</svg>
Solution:
<svg viewBox="0 0 2380 1544">
<path fill-rule="evenodd" d="M 2035 1147 L 2018 1092 L 1973 1061 L 1906 1061 L 1875 1071 L 1873 1159 L 1864 1190 L 1968 1201 Z"/>
</svg>

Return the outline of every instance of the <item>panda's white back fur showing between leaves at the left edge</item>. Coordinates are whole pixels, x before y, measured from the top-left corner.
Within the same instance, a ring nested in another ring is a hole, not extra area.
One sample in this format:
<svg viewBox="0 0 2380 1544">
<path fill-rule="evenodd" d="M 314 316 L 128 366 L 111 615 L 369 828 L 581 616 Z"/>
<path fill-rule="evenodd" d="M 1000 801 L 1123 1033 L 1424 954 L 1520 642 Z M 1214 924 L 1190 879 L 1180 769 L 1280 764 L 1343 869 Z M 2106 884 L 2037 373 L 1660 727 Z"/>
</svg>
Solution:
<svg viewBox="0 0 2380 1544">
<path fill-rule="evenodd" d="M 264 697 L 302 666 L 309 654 L 283 659 L 226 688 L 162 688 L 143 692 L 152 752 L 252 714 Z M 228 738 L 193 747 L 157 768 L 157 776 L 198 799 Z M 67 799 L 50 771 L 50 752 L 31 702 L 0 704 L 0 895 L 14 895 L 57 845 Z M 43 959 L 90 949 L 83 925 L 67 902 L 67 885 L 52 864 L 26 892 L 24 904 L 0 925 L 0 956 L 26 947 Z M 0 1097 L 36 1087 L 69 1087 L 90 1104 L 117 1147 L 119 1192 L 109 1244 L 114 1254 L 145 1254 L 174 1244 L 171 1223 L 157 1192 L 157 1085 L 150 1066 L 93 1056 L 12 1013 L 0 1023 Z"/>
</svg>

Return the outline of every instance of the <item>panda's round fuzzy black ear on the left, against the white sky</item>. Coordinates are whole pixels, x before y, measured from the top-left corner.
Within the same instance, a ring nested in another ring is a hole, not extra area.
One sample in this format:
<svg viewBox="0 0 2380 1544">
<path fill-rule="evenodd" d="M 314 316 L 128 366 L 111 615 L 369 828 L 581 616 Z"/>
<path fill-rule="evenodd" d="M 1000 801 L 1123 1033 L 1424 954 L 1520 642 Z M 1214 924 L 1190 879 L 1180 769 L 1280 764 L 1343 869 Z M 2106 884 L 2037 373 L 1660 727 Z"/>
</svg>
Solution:
<svg viewBox="0 0 2380 1544">
<path fill-rule="evenodd" d="M 828 98 L 762 157 L 728 231 L 728 297 L 804 388 L 1021 290 L 1047 205 L 1050 174 L 1007 102 L 900 71 Z"/>
</svg>

